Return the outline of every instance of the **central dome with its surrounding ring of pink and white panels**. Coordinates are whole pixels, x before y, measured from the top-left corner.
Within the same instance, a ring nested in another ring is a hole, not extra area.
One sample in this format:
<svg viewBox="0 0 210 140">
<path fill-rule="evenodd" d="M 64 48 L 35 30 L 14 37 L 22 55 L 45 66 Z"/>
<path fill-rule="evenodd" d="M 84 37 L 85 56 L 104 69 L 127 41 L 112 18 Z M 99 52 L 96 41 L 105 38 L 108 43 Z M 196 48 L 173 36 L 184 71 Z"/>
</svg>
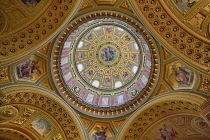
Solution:
<svg viewBox="0 0 210 140">
<path fill-rule="evenodd" d="M 145 88 L 151 54 L 142 35 L 111 18 L 88 21 L 70 33 L 60 56 L 63 81 L 94 107 L 123 105 Z"/>
</svg>

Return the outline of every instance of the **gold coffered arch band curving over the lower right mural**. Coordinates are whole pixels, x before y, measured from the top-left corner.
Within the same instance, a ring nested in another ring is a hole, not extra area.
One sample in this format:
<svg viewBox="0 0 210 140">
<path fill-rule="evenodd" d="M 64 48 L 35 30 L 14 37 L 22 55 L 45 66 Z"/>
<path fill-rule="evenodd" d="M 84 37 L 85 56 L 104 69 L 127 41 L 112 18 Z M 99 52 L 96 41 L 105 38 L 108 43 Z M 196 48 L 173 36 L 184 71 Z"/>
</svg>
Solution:
<svg viewBox="0 0 210 140">
<path fill-rule="evenodd" d="M 163 94 L 136 110 L 116 135 L 120 140 L 139 140 L 154 123 L 175 115 L 200 116 L 206 98 L 187 92 Z M 200 116 L 201 117 L 201 116 Z"/>
</svg>

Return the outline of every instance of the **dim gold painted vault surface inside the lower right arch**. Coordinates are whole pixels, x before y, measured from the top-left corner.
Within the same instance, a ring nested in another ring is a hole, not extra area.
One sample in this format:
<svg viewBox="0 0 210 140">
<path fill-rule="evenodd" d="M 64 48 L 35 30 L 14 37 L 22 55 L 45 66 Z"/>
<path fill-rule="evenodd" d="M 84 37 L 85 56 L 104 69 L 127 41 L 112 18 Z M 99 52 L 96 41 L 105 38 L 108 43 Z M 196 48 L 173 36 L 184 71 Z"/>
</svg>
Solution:
<svg viewBox="0 0 210 140">
<path fill-rule="evenodd" d="M 202 118 L 193 115 L 172 116 L 153 125 L 143 140 L 207 140 L 209 127 Z"/>
</svg>

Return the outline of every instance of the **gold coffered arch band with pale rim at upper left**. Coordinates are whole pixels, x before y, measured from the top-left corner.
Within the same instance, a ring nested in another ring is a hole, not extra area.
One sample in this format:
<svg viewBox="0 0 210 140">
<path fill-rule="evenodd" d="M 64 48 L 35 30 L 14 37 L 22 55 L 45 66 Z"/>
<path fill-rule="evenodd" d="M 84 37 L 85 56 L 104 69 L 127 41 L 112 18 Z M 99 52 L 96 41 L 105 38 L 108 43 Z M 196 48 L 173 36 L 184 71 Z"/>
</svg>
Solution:
<svg viewBox="0 0 210 140">
<path fill-rule="evenodd" d="M 8 3 L 11 4 L 10 1 L 3 2 L 5 5 Z M 14 29 L 10 29 L 10 32 L 8 31 L 0 35 L 2 48 L 6 48 L 0 49 L 1 64 L 8 65 L 14 63 L 14 61 L 20 60 L 20 58 L 25 56 L 24 54 L 26 52 L 32 54 L 34 51 L 43 47 L 43 45 L 48 43 L 50 39 L 55 37 L 62 30 L 62 27 L 68 24 L 79 10 L 82 3 L 83 0 L 43 0 L 33 11 L 28 7 L 20 9 L 20 7 L 25 6 L 22 1 L 16 2 L 16 4 L 12 5 L 14 7 L 19 7 L 18 10 L 22 10 L 21 13 L 31 13 L 36 16 L 28 16 L 27 19 L 29 20 L 19 24 L 18 28 L 13 27 Z M 9 9 L 9 7 L 6 8 Z M 42 9 L 40 10 L 40 8 Z M 10 19 L 10 17 L 15 16 L 11 13 L 15 12 L 9 11 L 4 14 L 7 20 Z M 15 17 L 17 18 L 17 21 L 22 21 L 22 16 Z M 7 25 L 5 25 L 5 27 L 14 24 L 12 23 L 13 20 L 10 19 L 8 21 L 11 23 L 6 22 Z"/>
</svg>

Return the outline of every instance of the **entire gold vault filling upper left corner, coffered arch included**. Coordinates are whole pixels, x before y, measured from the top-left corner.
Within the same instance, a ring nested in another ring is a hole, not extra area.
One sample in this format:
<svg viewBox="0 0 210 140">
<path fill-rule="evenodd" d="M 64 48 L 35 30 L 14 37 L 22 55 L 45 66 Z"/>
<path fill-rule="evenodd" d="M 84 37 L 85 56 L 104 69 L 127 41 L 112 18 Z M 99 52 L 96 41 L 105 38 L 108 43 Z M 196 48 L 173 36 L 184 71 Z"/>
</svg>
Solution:
<svg viewBox="0 0 210 140">
<path fill-rule="evenodd" d="M 2 11 L 0 11 L 0 32 L 3 32 L 1 37 L 0 44 L 3 44 L 2 47 L 8 46 L 8 43 L 12 43 L 12 48 L 7 48 L 8 51 L 1 50 L 1 57 L 7 58 L 1 59 L 3 64 L 8 64 L 16 61 L 16 58 L 21 58 L 17 56 L 18 54 L 23 54 L 23 51 L 29 51 L 30 53 L 35 50 L 35 47 L 42 46 L 40 43 L 46 39 L 47 36 L 52 38 L 51 33 L 58 33 L 58 30 L 55 30 L 55 27 L 60 27 L 64 22 L 66 23 L 72 18 L 74 12 L 79 10 L 77 7 L 82 1 L 61 1 L 59 5 L 57 5 L 57 0 L 44 1 L 44 0 L 20 0 L 17 2 L 12 2 L 11 0 L 7 0 L 5 2 L 1 2 Z M 6 4 L 7 3 L 7 4 Z M 56 6 L 57 9 L 68 9 L 67 11 L 62 11 L 62 16 L 60 16 L 59 20 L 54 16 L 49 17 L 45 13 L 52 13 L 51 15 L 61 15 L 58 10 L 53 10 L 53 7 Z M 16 7 L 11 8 L 11 7 Z M 66 8 L 67 7 L 67 8 Z M 70 9 L 70 10 L 69 10 Z M 4 12 L 3 12 L 4 11 Z M 74 11 L 74 12 L 73 12 Z M 39 14 L 37 14 L 39 13 Z M 8 20 L 9 19 L 9 20 Z M 48 22 L 42 22 L 42 19 L 45 19 Z M 64 20 L 65 19 L 65 20 Z M 45 28 L 48 27 L 47 24 L 56 23 L 49 25 L 49 28 L 41 31 L 40 27 Z M 61 24 L 59 24 L 61 23 Z M 14 32 L 13 32 L 14 31 Z M 13 32 L 13 33 L 12 33 Z M 34 34 L 36 33 L 36 35 Z M 28 34 L 28 35 L 27 35 Z M 45 37 L 43 37 L 45 36 Z M 15 37 L 15 38 L 14 38 Z M 20 39 L 20 38 L 28 38 Z M 29 39 L 30 38 L 30 39 Z M 4 40 L 8 39 L 9 42 L 6 43 Z M 21 43 L 21 44 L 20 44 Z M 20 45 L 26 45 L 27 47 L 23 47 Z M 39 44 L 39 45 L 38 45 Z M 20 46 L 20 47 L 19 47 Z M 1 47 L 1 48 L 2 48 Z M 15 50 L 15 48 L 17 50 Z M 21 49 L 21 50 L 20 50 Z M 10 55 L 9 55 L 10 54 Z M 8 57 L 9 56 L 9 57 Z M 9 60 L 8 60 L 9 59 Z M 4 61 L 5 60 L 5 61 Z M 10 63 L 9 62 L 9 63 Z"/>
</svg>

